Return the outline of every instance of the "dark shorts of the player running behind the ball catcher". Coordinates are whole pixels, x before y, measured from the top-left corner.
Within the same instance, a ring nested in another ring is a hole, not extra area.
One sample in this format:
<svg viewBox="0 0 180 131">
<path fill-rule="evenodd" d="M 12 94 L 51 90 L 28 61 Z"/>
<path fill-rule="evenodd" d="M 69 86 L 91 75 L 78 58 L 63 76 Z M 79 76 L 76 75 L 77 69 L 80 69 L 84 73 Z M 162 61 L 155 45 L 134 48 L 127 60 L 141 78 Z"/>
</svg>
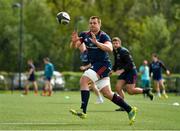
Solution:
<svg viewBox="0 0 180 131">
<path fill-rule="evenodd" d="M 124 72 L 118 76 L 118 80 L 126 81 L 126 84 L 136 84 L 137 81 L 137 71 L 135 69 Z"/>
</svg>

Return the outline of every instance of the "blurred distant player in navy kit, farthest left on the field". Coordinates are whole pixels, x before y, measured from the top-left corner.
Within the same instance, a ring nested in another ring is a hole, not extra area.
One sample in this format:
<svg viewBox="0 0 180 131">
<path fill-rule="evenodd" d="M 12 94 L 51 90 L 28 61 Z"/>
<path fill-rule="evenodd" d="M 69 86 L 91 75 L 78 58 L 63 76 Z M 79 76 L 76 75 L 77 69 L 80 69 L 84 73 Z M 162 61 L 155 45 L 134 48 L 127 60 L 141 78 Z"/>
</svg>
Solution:
<svg viewBox="0 0 180 131">
<path fill-rule="evenodd" d="M 27 61 L 28 63 L 28 68 L 29 68 L 29 71 L 28 71 L 28 79 L 25 83 L 25 90 L 24 90 L 24 95 L 27 95 L 28 94 L 28 91 L 29 91 L 29 85 L 30 83 L 33 84 L 34 86 L 34 94 L 35 95 L 38 95 L 38 86 L 37 86 L 37 83 L 36 83 L 36 78 L 35 78 L 35 66 L 33 64 L 33 60 L 32 59 L 29 59 Z"/>
</svg>

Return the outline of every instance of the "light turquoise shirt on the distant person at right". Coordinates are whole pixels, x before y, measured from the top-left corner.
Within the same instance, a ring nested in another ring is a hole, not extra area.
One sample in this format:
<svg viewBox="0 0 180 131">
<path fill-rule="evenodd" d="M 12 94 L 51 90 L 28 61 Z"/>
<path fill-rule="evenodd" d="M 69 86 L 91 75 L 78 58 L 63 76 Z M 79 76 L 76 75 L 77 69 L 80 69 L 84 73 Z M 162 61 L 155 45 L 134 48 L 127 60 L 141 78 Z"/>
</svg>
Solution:
<svg viewBox="0 0 180 131">
<path fill-rule="evenodd" d="M 149 80 L 149 67 L 148 66 L 140 66 L 139 72 L 141 72 L 141 80 Z"/>
</svg>

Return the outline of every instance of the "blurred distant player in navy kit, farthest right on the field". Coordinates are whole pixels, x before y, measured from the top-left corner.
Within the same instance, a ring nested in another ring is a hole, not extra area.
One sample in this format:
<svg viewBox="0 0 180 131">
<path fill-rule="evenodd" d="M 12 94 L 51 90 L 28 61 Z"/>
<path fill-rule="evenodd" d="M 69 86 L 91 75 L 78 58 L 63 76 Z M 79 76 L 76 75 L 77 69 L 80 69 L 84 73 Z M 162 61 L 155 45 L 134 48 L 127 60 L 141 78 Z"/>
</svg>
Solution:
<svg viewBox="0 0 180 131">
<path fill-rule="evenodd" d="M 162 95 L 164 98 L 168 98 L 168 95 L 166 94 L 165 86 L 164 86 L 164 81 L 162 77 L 162 69 L 166 71 L 167 75 L 170 75 L 170 71 L 165 67 L 163 62 L 159 60 L 157 54 L 152 55 L 152 62 L 150 64 L 150 76 L 152 76 L 152 79 L 155 84 L 155 90 L 157 92 L 157 96 L 161 98 L 161 90 L 162 88 Z"/>
</svg>

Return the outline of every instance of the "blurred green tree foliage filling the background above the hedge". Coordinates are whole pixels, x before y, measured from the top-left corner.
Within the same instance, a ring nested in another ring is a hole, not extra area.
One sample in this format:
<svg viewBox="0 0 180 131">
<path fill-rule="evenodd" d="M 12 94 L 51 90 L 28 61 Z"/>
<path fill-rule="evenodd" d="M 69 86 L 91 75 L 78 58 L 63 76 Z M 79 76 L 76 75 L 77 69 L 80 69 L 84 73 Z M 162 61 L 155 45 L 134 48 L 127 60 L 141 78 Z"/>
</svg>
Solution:
<svg viewBox="0 0 180 131">
<path fill-rule="evenodd" d="M 17 2 L 0 0 L 0 69 L 10 72 L 18 71 L 20 8 L 12 8 Z M 57 23 L 59 11 L 70 14 L 70 24 Z M 156 52 L 171 72 L 180 72 L 178 0 L 23 0 L 23 71 L 29 58 L 42 69 L 46 56 L 56 70 L 79 71 L 79 51 L 69 48 L 70 36 L 75 27 L 87 30 L 92 15 L 101 17 L 102 30 L 121 38 L 137 66 Z"/>
</svg>

